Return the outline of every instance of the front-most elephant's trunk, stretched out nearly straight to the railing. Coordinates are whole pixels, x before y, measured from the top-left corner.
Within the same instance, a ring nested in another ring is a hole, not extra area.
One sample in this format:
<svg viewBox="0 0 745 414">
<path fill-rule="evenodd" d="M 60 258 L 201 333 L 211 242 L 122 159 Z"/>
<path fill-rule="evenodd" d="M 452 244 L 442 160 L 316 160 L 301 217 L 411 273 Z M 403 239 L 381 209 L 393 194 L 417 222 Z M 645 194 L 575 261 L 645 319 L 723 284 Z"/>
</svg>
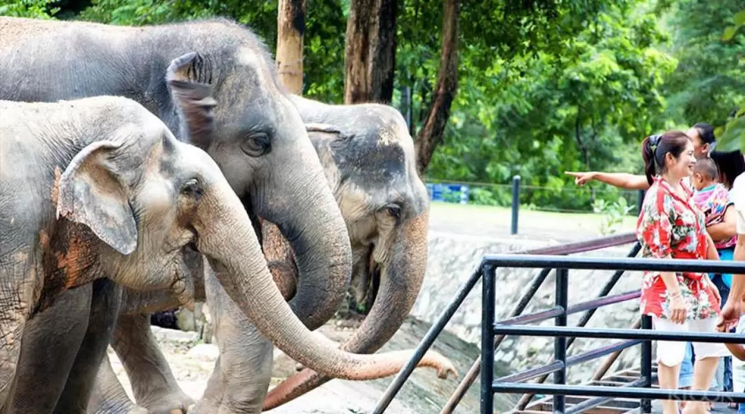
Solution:
<svg viewBox="0 0 745 414">
<path fill-rule="evenodd" d="M 371 380 L 393 375 L 410 359 L 413 351 L 358 355 L 337 348 L 337 344 L 314 334 L 302 325 L 269 273 L 251 221 L 227 182 L 220 198 L 202 203 L 197 230 L 197 249 L 206 256 L 226 293 L 264 337 L 305 366 L 346 380 Z M 204 210 L 206 208 L 206 210 Z M 208 214 L 205 214 L 208 213 Z M 418 366 L 437 369 L 440 378 L 454 367 L 442 355 L 431 351 Z"/>
</svg>

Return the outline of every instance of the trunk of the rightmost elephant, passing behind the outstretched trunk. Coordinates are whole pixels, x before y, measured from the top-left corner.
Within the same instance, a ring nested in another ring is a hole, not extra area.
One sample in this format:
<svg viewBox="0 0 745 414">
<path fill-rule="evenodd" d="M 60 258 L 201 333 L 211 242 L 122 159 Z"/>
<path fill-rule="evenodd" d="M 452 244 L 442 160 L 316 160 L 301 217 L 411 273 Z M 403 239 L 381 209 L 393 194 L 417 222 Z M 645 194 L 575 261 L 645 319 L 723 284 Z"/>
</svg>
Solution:
<svg viewBox="0 0 745 414">
<path fill-rule="evenodd" d="M 416 302 L 427 266 L 428 211 L 409 220 L 393 242 L 393 255 L 383 264 L 381 283 L 373 308 L 355 334 L 341 348 L 355 354 L 372 354 L 396 334 Z M 264 410 L 279 407 L 333 378 L 305 368 L 272 389 Z"/>
</svg>

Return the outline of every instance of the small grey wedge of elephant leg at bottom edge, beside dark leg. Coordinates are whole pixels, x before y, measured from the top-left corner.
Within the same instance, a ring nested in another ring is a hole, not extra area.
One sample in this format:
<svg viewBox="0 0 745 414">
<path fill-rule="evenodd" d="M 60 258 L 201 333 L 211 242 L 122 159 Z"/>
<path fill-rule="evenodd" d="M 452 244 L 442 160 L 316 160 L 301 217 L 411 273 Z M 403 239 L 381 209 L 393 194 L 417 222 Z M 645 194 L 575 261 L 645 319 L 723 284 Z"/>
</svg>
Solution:
<svg viewBox="0 0 745 414">
<path fill-rule="evenodd" d="M 91 399 L 88 403 L 89 414 L 148 414 L 148 409 L 139 407 L 130 400 L 124 386 L 116 378 L 109 357 L 101 360 Z"/>
</svg>

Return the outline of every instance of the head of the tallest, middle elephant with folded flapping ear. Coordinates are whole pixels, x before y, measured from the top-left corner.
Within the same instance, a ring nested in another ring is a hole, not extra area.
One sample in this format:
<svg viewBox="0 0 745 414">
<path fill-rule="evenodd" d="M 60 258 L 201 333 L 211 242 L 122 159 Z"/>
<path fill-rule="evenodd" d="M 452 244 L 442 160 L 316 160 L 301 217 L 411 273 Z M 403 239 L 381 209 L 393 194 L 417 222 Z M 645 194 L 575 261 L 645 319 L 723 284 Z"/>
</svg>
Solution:
<svg viewBox="0 0 745 414">
<path fill-rule="evenodd" d="M 231 42 L 250 33 L 233 35 Z M 257 233 L 258 217 L 276 223 L 290 242 L 302 275 L 302 294 L 290 305 L 312 330 L 332 317 L 349 286 L 343 217 L 270 55 L 258 42 L 229 45 L 224 54 L 219 66 L 217 57 L 194 52 L 168 66 L 180 136 L 215 159 Z"/>
</svg>

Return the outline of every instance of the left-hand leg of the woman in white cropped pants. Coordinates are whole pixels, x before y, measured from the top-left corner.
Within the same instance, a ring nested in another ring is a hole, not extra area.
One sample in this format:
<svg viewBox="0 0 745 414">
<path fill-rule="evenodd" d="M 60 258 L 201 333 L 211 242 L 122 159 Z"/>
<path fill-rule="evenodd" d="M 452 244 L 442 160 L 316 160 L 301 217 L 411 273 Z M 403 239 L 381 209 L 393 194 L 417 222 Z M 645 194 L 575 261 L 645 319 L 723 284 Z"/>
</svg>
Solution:
<svg viewBox="0 0 745 414">
<path fill-rule="evenodd" d="M 688 324 L 678 325 L 668 319 L 653 318 L 653 327 L 659 331 L 688 331 Z M 687 343 L 657 341 L 657 376 L 660 389 L 677 389 L 680 366 L 685 357 Z M 674 400 L 662 401 L 663 414 L 677 414 L 678 404 Z"/>
</svg>

